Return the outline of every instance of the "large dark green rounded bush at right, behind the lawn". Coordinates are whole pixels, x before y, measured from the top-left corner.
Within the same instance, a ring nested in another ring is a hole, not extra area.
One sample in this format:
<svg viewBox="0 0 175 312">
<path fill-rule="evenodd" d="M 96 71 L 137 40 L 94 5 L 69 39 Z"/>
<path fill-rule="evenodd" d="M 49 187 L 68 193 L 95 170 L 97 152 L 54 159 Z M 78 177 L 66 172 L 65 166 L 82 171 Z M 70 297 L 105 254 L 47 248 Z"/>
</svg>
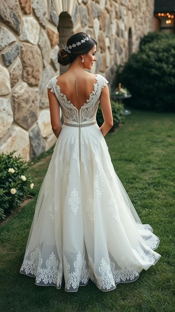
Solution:
<svg viewBox="0 0 175 312">
<path fill-rule="evenodd" d="M 118 69 L 117 80 L 130 90 L 130 106 L 159 112 L 175 111 L 175 37 L 163 36 L 151 43 L 145 42 L 143 39 L 141 50 Z"/>
</svg>

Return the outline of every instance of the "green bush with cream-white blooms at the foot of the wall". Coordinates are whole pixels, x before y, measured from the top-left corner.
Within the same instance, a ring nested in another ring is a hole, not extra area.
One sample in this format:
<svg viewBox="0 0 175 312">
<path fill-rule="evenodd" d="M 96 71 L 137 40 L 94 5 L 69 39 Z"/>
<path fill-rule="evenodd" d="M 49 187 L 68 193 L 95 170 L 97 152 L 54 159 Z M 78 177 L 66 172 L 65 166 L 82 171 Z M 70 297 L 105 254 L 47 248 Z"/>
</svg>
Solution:
<svg viewBox="0 0 175 312">
<path fill-rule="evenodd" d="M 0 154 L 0 219 L 13 212 L 34 186 L 27 174 L 27 162 L 14 153 Z"/>
</svg>

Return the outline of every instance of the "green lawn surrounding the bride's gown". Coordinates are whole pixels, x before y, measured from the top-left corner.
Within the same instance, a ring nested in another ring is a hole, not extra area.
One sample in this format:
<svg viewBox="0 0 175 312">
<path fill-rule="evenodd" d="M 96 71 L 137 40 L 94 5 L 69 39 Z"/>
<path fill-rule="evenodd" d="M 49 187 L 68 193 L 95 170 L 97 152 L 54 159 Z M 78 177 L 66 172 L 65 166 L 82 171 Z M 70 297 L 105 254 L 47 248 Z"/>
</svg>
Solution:
<svg viewBox="0 0 175 312">
<path fill-rule="evenodd" d="M 133 283 L 103 293 L 90 281 L 77 293 L 42 287 L 19 273 L 37 194 L 52 150 L 30 164 L 35 195 L 0 227 L 0 312 L 173 312 L 175 306 L 174 115 L 132 110 L 107 134 L 111 160 L 143 223 L 160 238 L 160 260 Z"/>
</svg>

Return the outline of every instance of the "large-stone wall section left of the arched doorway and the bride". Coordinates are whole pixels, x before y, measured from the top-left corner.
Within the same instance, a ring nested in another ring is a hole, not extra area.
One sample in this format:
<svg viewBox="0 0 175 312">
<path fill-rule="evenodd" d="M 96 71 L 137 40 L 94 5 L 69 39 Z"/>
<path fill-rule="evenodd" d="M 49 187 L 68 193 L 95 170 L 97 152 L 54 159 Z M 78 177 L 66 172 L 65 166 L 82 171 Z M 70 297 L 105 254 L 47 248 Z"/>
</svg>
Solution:
<svg viewBox="0 0 175 312">
<path fill-rule="evenodd" d="M 0 152 L 25 160 L 56 141 L 45 85 L 59 75 L 58 16 L 45 0 L 0 3 Z"/>
</svg>

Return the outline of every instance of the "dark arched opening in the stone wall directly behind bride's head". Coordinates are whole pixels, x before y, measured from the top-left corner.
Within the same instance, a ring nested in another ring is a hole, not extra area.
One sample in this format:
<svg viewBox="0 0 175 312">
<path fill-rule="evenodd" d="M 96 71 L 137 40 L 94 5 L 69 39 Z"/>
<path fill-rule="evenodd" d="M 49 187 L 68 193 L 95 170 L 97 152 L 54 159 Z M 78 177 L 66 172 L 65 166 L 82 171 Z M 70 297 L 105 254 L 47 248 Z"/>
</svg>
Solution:
<svg viewBox="0 0 175 312">
<path fill-rule="evenodd" d="M 59 15 L 59 47 L 62 48 L 62 45 L 66 45 L 66 41 L 70 36 L 73 35 L 73 22 L 70 15 L 67 12 L 62 12 Z M 67 66 L 60 65 L 60 75 L 64 74 L 67 71 Z"/>
</svg>

